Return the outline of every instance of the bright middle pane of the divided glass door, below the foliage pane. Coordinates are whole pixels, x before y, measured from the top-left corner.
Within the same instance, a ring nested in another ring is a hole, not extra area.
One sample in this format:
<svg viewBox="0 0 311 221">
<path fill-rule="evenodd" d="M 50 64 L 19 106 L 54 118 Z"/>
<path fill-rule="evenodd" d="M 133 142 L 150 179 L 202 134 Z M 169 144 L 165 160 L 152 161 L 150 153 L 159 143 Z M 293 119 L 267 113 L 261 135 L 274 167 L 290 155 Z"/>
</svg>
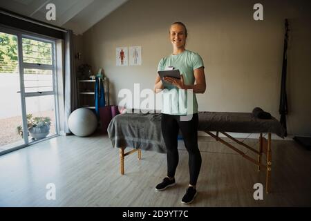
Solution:
<svg viewBox="0 0 311 221">
<path fill-rule="evenodd" d="M 23 69 L 25 92 L 53 91 L 52 70 Z"/>
</svg>

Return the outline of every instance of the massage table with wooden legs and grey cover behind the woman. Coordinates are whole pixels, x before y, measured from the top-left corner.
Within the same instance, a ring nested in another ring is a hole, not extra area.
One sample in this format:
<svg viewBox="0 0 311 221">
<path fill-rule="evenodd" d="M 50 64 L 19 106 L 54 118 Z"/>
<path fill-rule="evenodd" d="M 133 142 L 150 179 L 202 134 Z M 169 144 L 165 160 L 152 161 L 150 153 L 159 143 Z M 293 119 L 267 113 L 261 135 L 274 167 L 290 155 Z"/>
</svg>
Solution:
<svg viewBox="0 0 311 221">
<path fill-rule="evenodd" d="M 204 131 L 215 140 L 225 144 L 233 151 L 239 153 L 242 157 L 265 169 L 266 192 L 270 192 L 270 177 L 272 168 L 271 155 L 271 134 L 274 133 L 279 137 L 284 137 L 285 130 L 283 126 L 274 118 L 258 119 L 252 113 L 228 113 L 228 112 L 199 112 L 198 113 L 198 131 Z M 141 159 L 144 151 L 157 151 L 166 153 L 164 140 L 161 132 L 161 114 L 160 113 L 124 113 L 113 117 L 108 129 L 109 138 L 113 147 L 120 148 L 120 172 L 124 174 L 124 157 L 138 151 L 138 159 Z M 228 134 L 234 133 L 259 133 L 258 150 L 247 144 L 236 140 Z M 247 153 L 229 144 L 219 134 L 225 135 L 236 144 L 247 148 L 249 151 L 256 153 L 257 159 L 250 157 Z M 263 136 L 267 133 L 267 139 Z M 133 148 L 125 153 L 125 148 Z M 266 155 L 266 162 L 262 163 L 262 155 Z"/>
</svg>

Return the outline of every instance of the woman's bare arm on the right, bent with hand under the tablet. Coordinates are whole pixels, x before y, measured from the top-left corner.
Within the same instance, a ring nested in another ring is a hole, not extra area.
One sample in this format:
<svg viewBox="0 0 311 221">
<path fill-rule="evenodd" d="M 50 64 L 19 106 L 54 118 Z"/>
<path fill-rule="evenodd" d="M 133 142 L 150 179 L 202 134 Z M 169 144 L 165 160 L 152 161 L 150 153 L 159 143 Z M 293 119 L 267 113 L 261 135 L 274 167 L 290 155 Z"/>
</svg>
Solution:
<svg viewBox="0 0 311 221">
<path fill-rule="evenodd" d="M 183 81 L 183 77 L 181 75 L 181 79 L 176 79 L 173 77 L 164 77 L 164 81 L 177 86 L 180 89 L 192 89 L 194 93 L 202 94 L 205 93 L 206 83 L 205 83 L 205 73 L 204 68 L 197 68 L 194 70 L 194 79 L 196 79 L 196 84 L 185 85 Z"/>
</svg>

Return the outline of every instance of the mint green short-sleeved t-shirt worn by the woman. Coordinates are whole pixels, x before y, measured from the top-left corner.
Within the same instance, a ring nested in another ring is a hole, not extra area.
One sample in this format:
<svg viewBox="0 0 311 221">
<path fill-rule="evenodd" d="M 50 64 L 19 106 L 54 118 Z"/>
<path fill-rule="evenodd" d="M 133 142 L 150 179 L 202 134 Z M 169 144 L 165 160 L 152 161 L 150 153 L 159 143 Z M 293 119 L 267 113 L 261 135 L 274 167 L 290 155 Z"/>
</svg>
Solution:
<svg viewBox="0 0 311 221">
<path fill-rule="evenodd" d="M 190 50 L 184 50 L 178 55 L 169 55 L 160 60 L 159 70 L 178 69 L 184 77 L 186 85 L 194 84 L 194 70 L 204 68 L 200 55 Z M 164 82 L 162 90 L 162 113 L 169 115 L 191 115 L 198 113 L 196 94 L 190 90 L 182 90 Z"/>
</svg>

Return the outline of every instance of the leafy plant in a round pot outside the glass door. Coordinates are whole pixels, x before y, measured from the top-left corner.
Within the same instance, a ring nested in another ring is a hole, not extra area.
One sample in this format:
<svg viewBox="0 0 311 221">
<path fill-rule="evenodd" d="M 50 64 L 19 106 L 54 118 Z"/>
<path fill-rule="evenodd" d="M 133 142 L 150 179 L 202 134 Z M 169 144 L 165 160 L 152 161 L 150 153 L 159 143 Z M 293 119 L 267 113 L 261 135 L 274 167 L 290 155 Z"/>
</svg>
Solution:
<svg viewBox="0 0 311 221">
<path fill-rule="evenodd" d="M 27 115 L 28 135 L 32 139 L 39 140 L 50 133 L 50 117 L 32 117 L 32 114 Z M 17 133 L 23 137 L 23 127 L 17 126 Z"/>
</svg>

